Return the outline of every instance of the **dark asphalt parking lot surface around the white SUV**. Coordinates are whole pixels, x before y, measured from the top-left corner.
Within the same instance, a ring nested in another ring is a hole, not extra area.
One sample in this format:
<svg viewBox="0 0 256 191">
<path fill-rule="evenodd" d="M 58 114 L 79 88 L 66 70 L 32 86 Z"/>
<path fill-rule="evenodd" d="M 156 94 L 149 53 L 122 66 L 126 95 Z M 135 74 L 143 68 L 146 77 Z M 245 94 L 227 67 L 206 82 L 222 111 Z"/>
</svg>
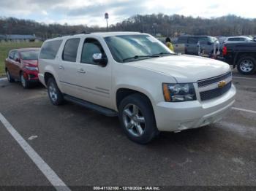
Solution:
<svg viewBox="0 0 256 191">
<path fill-rule="evenodd" d="M 222 121 L 143 146 L 127 139 L 117 117 L 53 106 L 44 87 L 1 79 L 0 185 L 256 186 L 256 75 L 234 70 L 233 83 L 236 104 Z"/>
</svg>

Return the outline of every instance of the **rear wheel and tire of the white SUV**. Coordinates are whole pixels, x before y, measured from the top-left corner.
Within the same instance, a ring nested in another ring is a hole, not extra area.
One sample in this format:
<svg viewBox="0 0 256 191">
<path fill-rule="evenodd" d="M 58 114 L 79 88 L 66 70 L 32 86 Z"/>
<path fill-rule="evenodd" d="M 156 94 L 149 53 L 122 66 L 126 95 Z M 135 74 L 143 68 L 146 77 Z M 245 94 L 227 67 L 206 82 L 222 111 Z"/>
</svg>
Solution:
<svg viewBox="0 0 256 191">
<path fill-rule="evenodd" d="M 59 105 L 63 104 L 63 102 L 64 102 L 63 95 L 62 95 L 61 91 L 59 90 L 59 87 L 56 84 L 55 79 L 53 79 L 52 77 L 50 79 L 48 79 L 47 89 L 48 89 L 48 96 L 50 98 L 50 102 L 53 105 L 59 106 Z"/>
</svg>

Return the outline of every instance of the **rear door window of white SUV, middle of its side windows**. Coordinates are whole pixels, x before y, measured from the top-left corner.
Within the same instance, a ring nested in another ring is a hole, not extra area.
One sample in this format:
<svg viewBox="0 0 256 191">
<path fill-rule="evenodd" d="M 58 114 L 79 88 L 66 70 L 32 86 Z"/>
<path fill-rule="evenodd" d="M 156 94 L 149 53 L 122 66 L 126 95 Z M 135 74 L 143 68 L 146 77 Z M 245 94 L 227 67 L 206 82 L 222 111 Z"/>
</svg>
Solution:
<svg viewBox="0 0 256 191">
<path fill-rule="evenodd" d="M 80 42 L 80 39 L 67 40 L 63 50 L 63 54 L 62 54 L 63 61 L 69 61 L 69 62 L 76 61 L 79 42 Z"/>
</svg>

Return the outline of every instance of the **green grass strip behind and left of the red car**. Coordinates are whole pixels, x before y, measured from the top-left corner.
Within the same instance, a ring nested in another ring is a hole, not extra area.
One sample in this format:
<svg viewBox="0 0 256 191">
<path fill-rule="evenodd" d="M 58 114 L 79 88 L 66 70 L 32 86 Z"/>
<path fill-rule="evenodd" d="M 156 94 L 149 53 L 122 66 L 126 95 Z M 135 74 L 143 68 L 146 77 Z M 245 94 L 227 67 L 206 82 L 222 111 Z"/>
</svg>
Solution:
<svg viewBox="0 0 256 191">
<path fill-rule="evenodd" d="M 8 52 L 15 48 L 41 47 L 42 42 L 2 42 L 0 43 L 0 77 L 5 74 L 4 61 Z"/>
</svg>

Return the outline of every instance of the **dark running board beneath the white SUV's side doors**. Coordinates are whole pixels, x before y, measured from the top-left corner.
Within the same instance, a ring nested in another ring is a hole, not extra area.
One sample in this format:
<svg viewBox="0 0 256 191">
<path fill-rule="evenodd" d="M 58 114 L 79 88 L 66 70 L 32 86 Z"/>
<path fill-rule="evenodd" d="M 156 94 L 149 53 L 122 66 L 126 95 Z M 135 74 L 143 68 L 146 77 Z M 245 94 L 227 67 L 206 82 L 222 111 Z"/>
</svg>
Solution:
<svg viewBox="0 0 256 191">
<path fill-rule="evenodd" d="M 67 101 L 72 101 L 75 104 L 84 106 L 84 107 L 94 110 L 96 112 L 99 112 L 100 114 L 104 114 L 105 116 L 108 116 L 108 117 L 116 117 L 117 116 L 117 112 L 112 109 L 108 109 L 104 106 L 99 106 L 97 104 L 92 104 L 88 101 L 83 101 L 82 99 L 75 98 L 71 95 L 64 95 L 64 99 Z"/>
</svg>

